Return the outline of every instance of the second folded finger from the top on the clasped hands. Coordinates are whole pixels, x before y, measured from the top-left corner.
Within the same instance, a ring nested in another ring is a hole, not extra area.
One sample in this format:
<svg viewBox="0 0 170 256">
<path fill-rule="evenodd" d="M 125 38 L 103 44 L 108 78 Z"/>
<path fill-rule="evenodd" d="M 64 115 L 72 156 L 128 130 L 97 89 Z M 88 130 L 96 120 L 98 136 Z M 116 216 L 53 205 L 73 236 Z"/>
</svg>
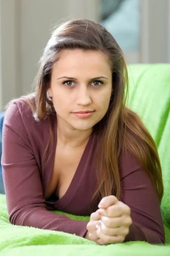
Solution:
<svg viewBox="0 0 170 256">
<path fill-rule="evenodd" d="M 103 224 L 105 224 L 106 227 L 110 228 L 116 228 L 121 226 L 129 227 L 132 224 L 132 219 L 130 218 L 130 216 L 127 218 L 124 215 L 117 218 L 102 216 L 101 221 Z"/>
</svg>

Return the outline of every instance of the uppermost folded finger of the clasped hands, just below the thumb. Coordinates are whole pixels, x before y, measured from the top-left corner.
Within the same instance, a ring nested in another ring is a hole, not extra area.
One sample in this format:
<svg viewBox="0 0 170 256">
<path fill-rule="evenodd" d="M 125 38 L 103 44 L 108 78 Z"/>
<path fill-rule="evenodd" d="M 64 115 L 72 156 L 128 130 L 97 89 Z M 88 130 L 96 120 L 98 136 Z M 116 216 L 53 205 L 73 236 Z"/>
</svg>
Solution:
<svg viewBox="0 0 170 256">
<path fill-rule="evenodd" d="M 120 204 L 111 205 L 107 209 L 101 209 L 101 215 L 112 218 L 120 217 L 122 215 L 130 215 L 130 207 L 120 202 Z"/>
</svg>

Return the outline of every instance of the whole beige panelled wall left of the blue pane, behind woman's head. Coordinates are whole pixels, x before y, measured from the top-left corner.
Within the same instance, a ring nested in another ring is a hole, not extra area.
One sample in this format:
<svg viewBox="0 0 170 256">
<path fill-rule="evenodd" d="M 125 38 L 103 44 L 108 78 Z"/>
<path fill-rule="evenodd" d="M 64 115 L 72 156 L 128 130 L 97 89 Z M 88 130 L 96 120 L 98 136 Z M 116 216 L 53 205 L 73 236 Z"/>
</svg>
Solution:
<svg viewBox="0 0 170 256">
<path fill-rule="evenodd" d="M 98 20 L 99 0 L 0 0 L 0 107 L 26 94 L 59 20 Z"/>
</svg>

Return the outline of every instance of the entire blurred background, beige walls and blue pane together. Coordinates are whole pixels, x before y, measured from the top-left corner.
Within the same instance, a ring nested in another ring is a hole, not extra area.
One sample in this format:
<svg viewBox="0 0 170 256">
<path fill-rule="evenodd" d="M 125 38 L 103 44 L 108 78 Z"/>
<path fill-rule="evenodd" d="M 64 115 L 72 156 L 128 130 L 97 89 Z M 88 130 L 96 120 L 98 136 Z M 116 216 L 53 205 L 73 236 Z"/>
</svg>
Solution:
<svg viewBox="0 0 170 256">
<path fill-rule="evenodd" d="M 170 0 L 0 0 L 0 108 L 31 90 L 56 23 L 102 23 L 133 63 L 170 62 Z"/>
</svg>

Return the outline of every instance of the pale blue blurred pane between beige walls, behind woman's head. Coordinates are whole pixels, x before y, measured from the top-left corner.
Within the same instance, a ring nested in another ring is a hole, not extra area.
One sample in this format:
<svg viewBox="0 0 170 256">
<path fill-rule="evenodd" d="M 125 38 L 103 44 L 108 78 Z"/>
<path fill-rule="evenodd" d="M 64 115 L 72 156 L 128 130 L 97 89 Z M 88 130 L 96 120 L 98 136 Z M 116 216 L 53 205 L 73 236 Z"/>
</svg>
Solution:
<svg viewBox="0 0 170 256">
<path fill-rule="evenodd" d="M 105 0 L 103 1 L 104 4 Z M 114 2 L 112 0 L 112 2 Z M 110 8 L 113 4 L 108 3 Z M 101 22 L 123 51 L 138 51 L 140 40 L 140 1 L 124 0 L 115 12 Z"/>
</svg>

